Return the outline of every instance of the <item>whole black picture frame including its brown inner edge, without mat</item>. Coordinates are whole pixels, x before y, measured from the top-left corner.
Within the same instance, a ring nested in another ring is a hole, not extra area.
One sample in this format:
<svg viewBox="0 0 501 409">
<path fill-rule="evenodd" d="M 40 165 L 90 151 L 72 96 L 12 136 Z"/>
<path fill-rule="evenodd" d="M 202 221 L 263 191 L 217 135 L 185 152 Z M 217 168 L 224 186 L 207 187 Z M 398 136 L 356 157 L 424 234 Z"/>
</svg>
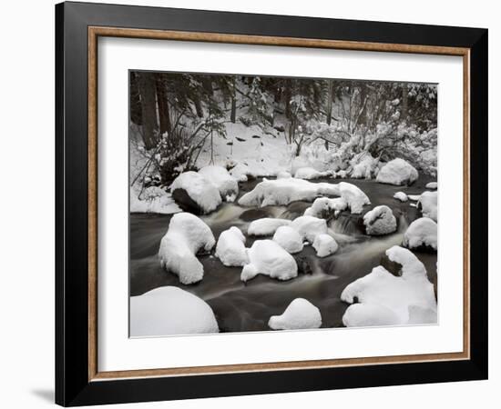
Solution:
<svg viewBox="0 0 501 409">
<path fill-rule="evenodd" d="M 99 372 L 99 36 L 462 56 L 463 352 Z M 71 2 L 56 5 L 56 403 L 113 404 L 486 379 L 486 153 L 485 29 Z"/>
</svg>

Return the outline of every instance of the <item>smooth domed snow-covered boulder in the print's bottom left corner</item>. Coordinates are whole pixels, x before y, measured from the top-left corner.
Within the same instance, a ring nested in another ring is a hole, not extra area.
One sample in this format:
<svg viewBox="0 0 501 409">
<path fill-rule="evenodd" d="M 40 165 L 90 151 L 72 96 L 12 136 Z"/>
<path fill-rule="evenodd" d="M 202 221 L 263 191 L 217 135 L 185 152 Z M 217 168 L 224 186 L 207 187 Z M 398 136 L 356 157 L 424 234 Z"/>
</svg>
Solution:
<svg viewBox="0 0 501 409">
<path fill-rule="evenodd" d="M 130 297 L 131 336 L 219 333 L 210 305 L 178 287 Z"/>
</svg>

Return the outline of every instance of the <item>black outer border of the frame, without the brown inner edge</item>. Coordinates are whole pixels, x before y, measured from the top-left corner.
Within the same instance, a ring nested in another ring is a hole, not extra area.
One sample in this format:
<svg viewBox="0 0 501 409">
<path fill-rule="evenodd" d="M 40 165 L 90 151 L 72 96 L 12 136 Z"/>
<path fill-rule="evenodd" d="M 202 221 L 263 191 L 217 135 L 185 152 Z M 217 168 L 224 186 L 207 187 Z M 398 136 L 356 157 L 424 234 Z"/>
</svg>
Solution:
<svg viewBox="0 0 501 409">
<path fill-rule="evenodd" d="M 471 359 L 87 380 L 87 26 L 471 50 Z M 259 28 L 257 28 L 259 27 Z M 487 30 L 159 7 L 56 5 L 56 404 L 115 404 L 487 378 Z"/>
</svg>

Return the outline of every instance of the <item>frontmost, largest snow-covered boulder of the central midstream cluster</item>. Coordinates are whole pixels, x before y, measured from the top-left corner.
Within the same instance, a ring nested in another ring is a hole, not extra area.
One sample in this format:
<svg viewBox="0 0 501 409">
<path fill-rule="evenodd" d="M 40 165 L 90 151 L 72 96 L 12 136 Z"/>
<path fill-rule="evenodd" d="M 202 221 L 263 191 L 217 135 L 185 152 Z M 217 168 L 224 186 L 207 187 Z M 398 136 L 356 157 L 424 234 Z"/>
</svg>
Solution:
<svg viewBox="0 0 501 409">
<path fill-rule="evenodd" d="M 272 240 L 256 240 L 247 251 L 250 264 L 245 264 L 240 280 L 249 281 L 257 274 L 279 280 L 290 280 L 298 275 L 298 265 L 291 254 Z"/>
</svg>

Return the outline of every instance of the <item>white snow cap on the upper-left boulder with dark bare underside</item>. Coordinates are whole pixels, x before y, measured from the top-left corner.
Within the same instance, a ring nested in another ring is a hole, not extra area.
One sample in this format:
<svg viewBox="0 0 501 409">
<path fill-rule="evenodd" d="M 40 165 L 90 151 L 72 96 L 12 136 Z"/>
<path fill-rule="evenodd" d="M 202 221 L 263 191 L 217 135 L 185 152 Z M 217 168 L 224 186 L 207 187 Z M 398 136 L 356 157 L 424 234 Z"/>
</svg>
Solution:
<svg viewBox="0 0 501 409">
<path fill-rule="evenodd" d="M 216 210 L 221 204 L 218 188 L 197 172 L 189 171 L 179 175 L 170 185 L 170 192 L 177 189 L 183 189 L 204 214 Z"/>
</svg>

